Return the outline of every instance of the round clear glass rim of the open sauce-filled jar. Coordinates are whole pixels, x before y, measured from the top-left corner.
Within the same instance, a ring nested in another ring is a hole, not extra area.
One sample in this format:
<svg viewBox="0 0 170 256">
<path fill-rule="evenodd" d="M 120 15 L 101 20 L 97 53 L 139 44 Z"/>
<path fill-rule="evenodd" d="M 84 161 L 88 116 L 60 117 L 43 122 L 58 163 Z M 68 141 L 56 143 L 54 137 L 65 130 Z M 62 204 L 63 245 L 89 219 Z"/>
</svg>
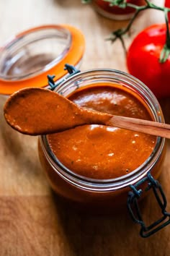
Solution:
<svg viewBox="0 0 170 256">
<path fill-rule="evenodd" d="M 138 89 L 140 89 L 138 93 L 146 94 L 145 98 L 147 103 L 150 103 L 152 107 L 154 106 L 155 111 L 153 118 L 158 122 L 164 123 L 164 116 L 161 113 L 161 106 L 159 105 L 158 100 L 156 99 L 155 95 L 153 95 L 151 90 L 136 77 L 133 77 L 131 74 L 119 71 L 117 69 L 90 69 L 84 72 L 80 72 L 78 74 L 74 74 L 72 77 L 69 77 L 68 80 L 64 80 L 63 82 L 61 82 L 61 84 L 58 85 L 58 88 L 55 89 L 55 92 L 61 93 L 61 89 L 63 88 L 63 86 L 66 87 L 66 85 L 70 82 L 78 82 L 79 79 L 84 76 L 89 77 L 90 74 L 93 77 L 97 77 L 97 73 L 101 72 L 104 72 L 104 74 L 121 75 L 123 79 L 127 79 L 128 82 L 135 82 L 135 85 L 138 85 Z M 165 138 L 157 137 L 156 145 L 153 148 L 151 155 L 142 165 L 140 165 L 134 171 L 131 171 L 129 174 L 125 174 L 115 179 L 91 179 L 85 176 L 81 176 L 79 174 L 75 174 L 73 171 L 66 168 L 66 166 L 64 166 L 63 163 L 61 163 L 58 158 L 56 158 L 53 151 L 51 150 L 50 145 L 48 144 L 47 136 L 48 135 L 40 136 L 40 144 L 46 158 L 48 159 L 48 162 L 53 167 L 53 169 L 57 171 L 58 174 L 63 177 L 63 179 L 66 179 L 71 184 L 94 191 L 113 191 L 116 189 L 122 189 L 128 187 L 130 184 L 135 184 L 140 179 L 143 179 L 143 177 L 146 176 L 149 171 L 151 171 L 151 168 L 153 168 L 156 161 L 158 161 L 158 159 L 161 157 L 161 152 L 164 149 L 165 143 Z M 60 171 L 56 170 L 56 166 L 60 168 Z"/>
</svg>

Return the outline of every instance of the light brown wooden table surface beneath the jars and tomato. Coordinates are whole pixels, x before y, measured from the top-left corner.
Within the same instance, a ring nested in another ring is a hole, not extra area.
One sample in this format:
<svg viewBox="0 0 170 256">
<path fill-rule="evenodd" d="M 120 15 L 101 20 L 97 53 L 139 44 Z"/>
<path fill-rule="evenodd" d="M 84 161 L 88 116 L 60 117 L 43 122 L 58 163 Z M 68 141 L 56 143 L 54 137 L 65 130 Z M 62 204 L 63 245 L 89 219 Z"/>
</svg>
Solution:
<svg viewBox="0 0 170 256">
<path fill-rule="evenodd" d="M 125 38 L 126 45 L 143 27 L 162 20 L 161 12 L 149 10 L 141 14 Z M 81 70 L 107 67 L 127 71 L 120 42 L 111 44 L 104 40 L 127 22 L 107 20 L 79 0 L 0 1 L 0 44 L 22 30 L 50 23 L 68 23 L 84 33 L 86 51 Z M 5 101 L 0 96 L 0 256 L 170 255 L 170 226 L 142 239 L 139 227 L 126 212 L 88 216 L 61 205 L 42 173 L 37 137 L 20 135 L 7 126 L 3 117 Z M 161 105 L 169 122 L 169 99 Z M 170 205 L 169 155 L 168 142 L 160 181 Z M 146 222 L 158 212 L 151 195 L 142 208 Z"/>
</svg>

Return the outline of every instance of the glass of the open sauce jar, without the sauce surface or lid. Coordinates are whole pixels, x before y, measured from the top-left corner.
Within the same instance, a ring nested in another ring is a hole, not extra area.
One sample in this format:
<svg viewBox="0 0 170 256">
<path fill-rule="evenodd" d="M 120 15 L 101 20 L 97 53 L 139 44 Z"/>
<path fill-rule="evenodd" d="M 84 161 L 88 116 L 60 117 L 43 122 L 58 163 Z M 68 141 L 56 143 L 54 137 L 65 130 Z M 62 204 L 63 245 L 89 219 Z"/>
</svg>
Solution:
<svg viewBox="0 0 170 256">
<path fill-rule="evenodd" d="M 147 106 L 153 120 L 164 122 L 161 107 L 151 90 L 130 74 L 117 70 L 94 69 L 74 74 L 61 82 L 55 92 L 67 97 L 78 88 L 100 84 L 117 84 L 118 88 L 133 93 Z M 126 205 L 128 193 L 132 189 L 141 194 L 140 190 L 151 183 L 150 178 L 157 179 L 163 168 L 165 148 L 165 139 L 157 137 L 153 152 L 140 167 L 116 179 L 97 180 L 79 176 L 63 166 L 50 149 L 48 136 L 39 138 L 40 162 L 53 190 L 69 202 L 75 203 L 78 208 L 94 209 L 98 213 L 104 209 L 110 212 L 111 209 L 121 208 Z M 130 204 L 129 207 L 131 209 Z"/>
</svg>

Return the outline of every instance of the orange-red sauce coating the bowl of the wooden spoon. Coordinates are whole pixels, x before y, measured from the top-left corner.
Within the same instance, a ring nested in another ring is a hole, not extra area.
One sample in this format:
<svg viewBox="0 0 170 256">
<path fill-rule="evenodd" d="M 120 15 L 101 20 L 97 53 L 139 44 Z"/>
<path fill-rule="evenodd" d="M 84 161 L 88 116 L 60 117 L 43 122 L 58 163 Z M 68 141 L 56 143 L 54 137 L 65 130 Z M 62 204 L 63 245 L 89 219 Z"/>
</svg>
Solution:
<svg viewBox="0 0 170 256">
<path fill-rule="evenodd" d="M 18 132 L 45 135 L 82 124 L 104 124 L 110 117 L 96 111 L 84 111 L 67 98 L 42 88 L 27 88 L 6 101 L 4 117 Z"/>
</svg>

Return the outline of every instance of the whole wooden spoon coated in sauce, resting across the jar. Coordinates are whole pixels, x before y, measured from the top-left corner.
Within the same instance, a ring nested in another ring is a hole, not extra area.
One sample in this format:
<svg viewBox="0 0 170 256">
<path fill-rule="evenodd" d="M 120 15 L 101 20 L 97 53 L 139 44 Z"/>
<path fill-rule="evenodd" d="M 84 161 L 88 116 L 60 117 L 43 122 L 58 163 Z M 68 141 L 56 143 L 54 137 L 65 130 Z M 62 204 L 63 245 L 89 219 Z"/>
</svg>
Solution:
<svg viewBox="0 0 170 256">
<path fill-rule="evenodd" d="M 45 135 L 82 124 L 104 124 L 170 138 L 169 124 L 91 111 L 42 88 L 27 88 L 11 95 L 4 106 L 4 117 L 12 128 L 27 135 Z"/>
</svg>

